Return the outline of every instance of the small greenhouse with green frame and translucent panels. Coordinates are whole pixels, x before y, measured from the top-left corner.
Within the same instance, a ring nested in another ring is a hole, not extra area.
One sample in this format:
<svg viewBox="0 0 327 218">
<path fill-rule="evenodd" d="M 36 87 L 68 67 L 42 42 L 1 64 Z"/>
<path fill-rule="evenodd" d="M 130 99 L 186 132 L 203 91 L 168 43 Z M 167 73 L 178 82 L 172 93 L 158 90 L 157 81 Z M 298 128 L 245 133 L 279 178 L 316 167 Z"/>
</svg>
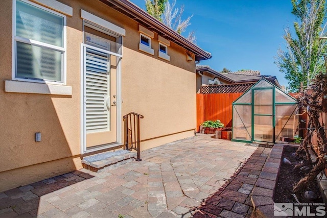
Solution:
<svg viewBox="0 0 327 218">
<path fill-rule="evenodd" d="M 275 142 L 294 138 L 297 101 L 265 79 L 232 104 L 232 140 Z"/>
</svg>

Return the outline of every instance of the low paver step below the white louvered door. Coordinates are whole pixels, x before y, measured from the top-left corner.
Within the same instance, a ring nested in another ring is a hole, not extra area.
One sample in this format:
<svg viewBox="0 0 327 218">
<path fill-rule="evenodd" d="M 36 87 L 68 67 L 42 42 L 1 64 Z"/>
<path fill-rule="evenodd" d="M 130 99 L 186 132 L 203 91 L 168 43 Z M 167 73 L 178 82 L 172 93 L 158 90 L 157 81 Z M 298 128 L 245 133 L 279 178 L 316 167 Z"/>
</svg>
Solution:
<svg viewBox="0 0 327 218">
<path fill-rule="evenodd" d="M 107 171 L 109 169 L 114 169 L 122 164 L 132 162 L 136 158 L 137 154 L 134 152 L 110 157 L 105 160 L 99 160 L 96 162 L 88 162 L 86 160 L 81 160 L 82 166 L 89 171 L 100 173 Z"/>
</svg>

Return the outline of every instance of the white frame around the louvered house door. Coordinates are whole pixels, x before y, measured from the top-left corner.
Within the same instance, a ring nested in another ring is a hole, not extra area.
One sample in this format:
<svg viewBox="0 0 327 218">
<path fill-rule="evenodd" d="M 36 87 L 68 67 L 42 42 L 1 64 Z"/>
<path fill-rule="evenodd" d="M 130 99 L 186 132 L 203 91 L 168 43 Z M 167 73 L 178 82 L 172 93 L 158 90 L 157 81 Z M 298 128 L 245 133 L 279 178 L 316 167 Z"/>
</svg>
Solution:
<svg viewBox="0 0 327 218">
<path fill-rule="evenodd" d="M 117 39 L 118 40 L 118 39 Z M 121 43 L 122 44 L 122 43 Z M 80 101 L 80 111 L 81 111 L 81 154 L 89 153 L 89 152 L 95 152 L 95 151 L 100 151 L 116 146 L 122 145 L 122 113 L 121 113 L 121 104 L 122 104 L 122 98 L 121 98 L 121 93 L 122 93 L 122 74 L 121 74 L 121 64 L 122 64 L 122 58 L 123 56 L 120 54 L 112 53 L 109 52 L 110 55 L 116 56 L 116 142 L 110 143 L 106 146 L 100 146 L 96 148 L 91 148 L 87 149 L 86 148 L 86 111 L 85 111 L 85 101 L 86 101 L 86 96 L 85 96 L 85 70 L 84 70 L 84 46 L 86 44 L 81 43 L 81 86 L 80 86 L 80 96 L 81 96 L 81 101 Z"/>
</svg>

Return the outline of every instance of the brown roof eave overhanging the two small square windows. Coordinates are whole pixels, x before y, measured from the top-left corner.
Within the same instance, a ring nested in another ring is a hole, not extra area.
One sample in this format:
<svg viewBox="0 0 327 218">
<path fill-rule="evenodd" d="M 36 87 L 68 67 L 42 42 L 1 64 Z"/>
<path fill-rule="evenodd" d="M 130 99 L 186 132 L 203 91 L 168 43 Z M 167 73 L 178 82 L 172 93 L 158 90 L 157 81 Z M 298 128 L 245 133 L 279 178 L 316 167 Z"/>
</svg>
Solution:
<svg viewBox="0 0 327 218">
<path fill-rule="evenodd" d="M 137 21 L 144 27 L 153 32 L 158 33 L 160 36 L 182 46 L 195 54 L 195 61 L 206 60 L 212 58 L 211 54 L 202 50 L 199 46 L 184 38 L 171 28 L 161 23 L 156 18 L 149 15 L 147 12 L 131 3 L 128 0 L 99 0 L 100 2 L 112 7 L 113 9 L 125 14 L 126 16 Z"/>
</svg>

